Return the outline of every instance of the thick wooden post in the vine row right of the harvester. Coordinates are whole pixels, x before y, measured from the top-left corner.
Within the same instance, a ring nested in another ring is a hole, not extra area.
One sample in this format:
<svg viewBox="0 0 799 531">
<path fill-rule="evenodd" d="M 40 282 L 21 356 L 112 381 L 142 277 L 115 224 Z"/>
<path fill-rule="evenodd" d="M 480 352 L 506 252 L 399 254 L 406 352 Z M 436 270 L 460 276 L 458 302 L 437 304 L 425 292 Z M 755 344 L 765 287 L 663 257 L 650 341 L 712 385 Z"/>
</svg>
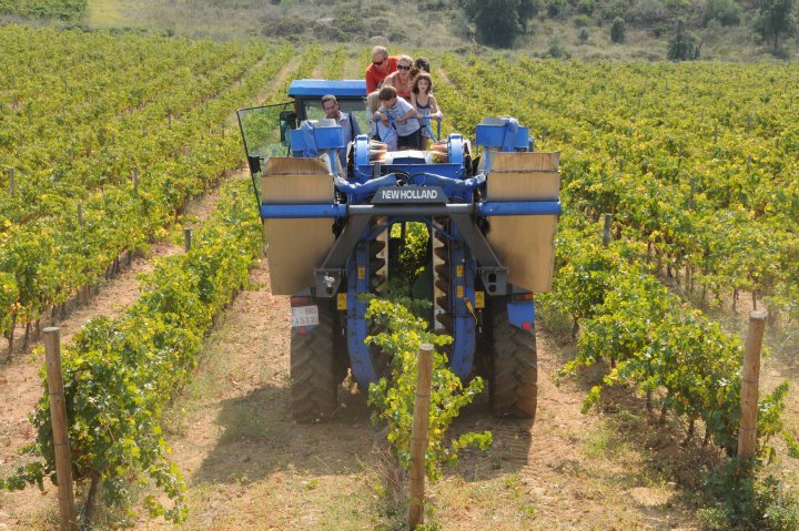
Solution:
<svg viewBox="0 0 799 531">
<path fill-rule="evenodd" d="M 749 313 L 749 330 L 741 368 L 741 420 L 738 429 L 738 458 L 740 459 L 754 456 L 757 450 L 760 347 L 765 328 L 766 312 Z"/>
</svg>

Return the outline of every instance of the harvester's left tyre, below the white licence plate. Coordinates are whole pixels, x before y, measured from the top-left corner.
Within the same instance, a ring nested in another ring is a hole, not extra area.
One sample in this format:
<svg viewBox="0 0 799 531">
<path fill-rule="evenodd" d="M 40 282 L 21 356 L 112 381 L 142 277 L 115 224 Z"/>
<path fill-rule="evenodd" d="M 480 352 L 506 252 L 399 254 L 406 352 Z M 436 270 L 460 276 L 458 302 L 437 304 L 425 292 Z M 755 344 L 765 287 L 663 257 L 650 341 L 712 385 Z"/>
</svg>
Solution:
<svg viewBox="0 0 799 531">
<path fill-rule="evenodd" d="M 304 334 L 292 328 L 291 406 L 297 422 L 330 417 L 337 406 L 338 367 L 335 356 L 335 312 L 318 300 L 320 324 Z"/>
</svg>

